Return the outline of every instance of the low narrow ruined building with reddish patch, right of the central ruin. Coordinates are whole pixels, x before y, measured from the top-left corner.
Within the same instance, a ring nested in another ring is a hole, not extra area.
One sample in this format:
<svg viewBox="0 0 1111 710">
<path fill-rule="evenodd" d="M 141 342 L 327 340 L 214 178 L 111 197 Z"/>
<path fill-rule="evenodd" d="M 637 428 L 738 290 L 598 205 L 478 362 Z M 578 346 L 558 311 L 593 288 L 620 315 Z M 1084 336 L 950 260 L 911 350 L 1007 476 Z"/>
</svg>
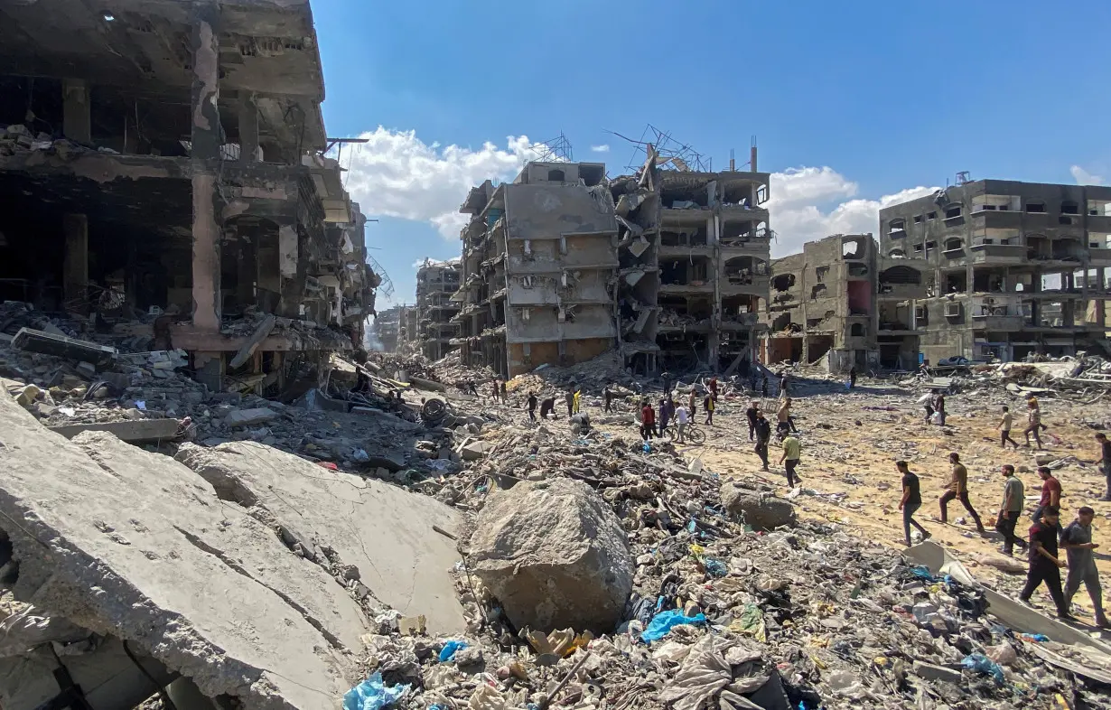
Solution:
<svg viewBox="0 0 1111 710">
<path fill-rule="evenodd" d="M 771 262 L 764 362 L 874 366 L 875 241 L 834 234 Z"/>
</svg>

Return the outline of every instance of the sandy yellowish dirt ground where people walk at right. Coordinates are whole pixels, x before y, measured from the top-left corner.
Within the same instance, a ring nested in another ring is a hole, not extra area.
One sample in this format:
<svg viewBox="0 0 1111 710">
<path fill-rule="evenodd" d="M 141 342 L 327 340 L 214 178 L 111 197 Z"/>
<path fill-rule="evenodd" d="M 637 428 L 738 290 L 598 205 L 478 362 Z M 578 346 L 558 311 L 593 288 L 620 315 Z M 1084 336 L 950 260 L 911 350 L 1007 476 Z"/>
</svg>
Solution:
<svg viewBox="0 0 1111 710">
<path fill-rule="evenodd" d="M 997 387 L 954 394 L 947 398 L 949 417 L 942 428 L 924 423 L 924 412 L 917 404 L 921 390 L 861 382 L 858 389 L 848 392 L 827 383 L 813 384 L 808 388 L 800 382 L 799 394 L 792 398 L 802 441 L 798 472 L 803 490 L 794 499 L 800 514 L 840 523 L 878 542 L 902 548 L 902 513 L 898 510 L 901 477 L 894 462 L 904 459 L 921 480 L 922 508 L 915 516 L 919 522 L 933 534 L 934 541 L 953 550 L 979 579 L 1017 597 L 1024 580 L 1025 556 L 1015 551 L 1011 561 L 1012 566 L 1021 566 L 1022 571 L 1008 573 L 992 564 L 1009 562 L 998 552 L 1001 536 L 993 531 L 1003 491 L 1000 468 L 1011 463 L 1019 471 L 1025 484 L 1027 516 L 1038 503 L 1041 480 L 1035 472 L 1035 451 L 1025 448 L 1004 451 L 999 444 L 997 427 L 1001 407 L 1009 404 L 1015 414 L 1012 437 L 1021 446 L 1023 426 L 1019 422 L 1024 422 L 1024 402 Z M 808 390 L 814 393 L 808 394 Z M 758 476 L 785 496 L 790 489 L 782 467 L 777 464 L 782 450 L 774 438 L 770 448 L 772 471 L 760 471 L 760 460 L 748 438 L 744 409 L 749 401 L 747 397 L 723 397 L 714 414 L 714 426 L 703 427 L 708 433 L 705 443 L 683 450 L 689 457 L 701 458 L 710 470 L 723 477 Z M 774 422 L 777 400 L 759 401 Z M 1098 566 L 1102 584 L 1109 589 L 1111 503 L 1098 500 L 1105 481 L 1094 466 L 1100 449 L 1094 440 L 1097 430 L 1089 424 L 1102 427 L 1111 421 L 1111 402 L 1083 406 L 1043 398 L 1041 408 L 1048 433 L 1053 434 L 1042 436 L 1047 452 L 1061 459 L 1073 457 L 1055 469 L 1064 492 L 1061 523 L 1071 522 L 1081 506 L 1095 510 L 1093 541 L 1102 546 L 1097 550 Z M 700 424 L 703 417 L 699 411 Z M 601 429 L 625 437 L 633 432 L 629 426 L 602 424 Z M 975 532 L 975 524 L 960 501 L 949 504 L 949 524 L 940 522 L 938 498 L 949 480 L 952 451 L 968 467 L 971 502 L 990 531 L 988 534 Z M 1020 520 L 1017 533 L 1024 538 L 1030 524 L 1029 518 Z M 1044 587 L 1035 593 L 1034 601 L 1052 610 Z M 1091 603 L 1083 587 L 1073 603 L 1079 607 L 1074 611 L 1081 620 L 1090 621 Z"/>
</svg>

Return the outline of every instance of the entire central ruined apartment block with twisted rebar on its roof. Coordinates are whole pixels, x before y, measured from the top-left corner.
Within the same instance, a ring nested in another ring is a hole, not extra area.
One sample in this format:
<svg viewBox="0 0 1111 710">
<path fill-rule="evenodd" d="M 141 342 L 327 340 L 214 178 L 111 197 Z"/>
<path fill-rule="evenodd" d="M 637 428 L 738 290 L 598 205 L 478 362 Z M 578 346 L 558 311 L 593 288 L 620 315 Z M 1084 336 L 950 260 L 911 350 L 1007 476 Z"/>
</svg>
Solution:
<svg viewBox="0 0 1111 710">
<path fill-rule="evenodd" d="M 612 181 L 602 163 L 531 162 L 469 192 L 454 297 L 464 363 L 513 377 L 607 351 L 640 372 L 754 358 L 768 174 L 647 152 Z"/>
</svg>

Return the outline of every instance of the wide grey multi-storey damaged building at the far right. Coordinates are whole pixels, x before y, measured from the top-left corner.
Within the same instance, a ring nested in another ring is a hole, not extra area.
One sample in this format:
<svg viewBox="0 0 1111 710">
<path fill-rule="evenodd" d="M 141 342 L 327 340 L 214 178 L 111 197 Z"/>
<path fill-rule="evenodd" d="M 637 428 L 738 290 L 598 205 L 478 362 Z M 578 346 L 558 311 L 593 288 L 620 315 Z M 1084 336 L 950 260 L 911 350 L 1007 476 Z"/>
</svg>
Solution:
<svg viewBox="0 0 1111 710">
<path fill-rule="evenodd" d="M 925 287 L 912 304 L 888 304 L 881 320 L 907 326 L 892 332 L 901 351 L 917 337 L 934 364 L 1102 347 L 1109 240 L 1111 187 L 977 180 L 888 207 L 880 253 L 919 262 Z M 912 286 L 911 270 L 889 286 Z"/>
</svg>

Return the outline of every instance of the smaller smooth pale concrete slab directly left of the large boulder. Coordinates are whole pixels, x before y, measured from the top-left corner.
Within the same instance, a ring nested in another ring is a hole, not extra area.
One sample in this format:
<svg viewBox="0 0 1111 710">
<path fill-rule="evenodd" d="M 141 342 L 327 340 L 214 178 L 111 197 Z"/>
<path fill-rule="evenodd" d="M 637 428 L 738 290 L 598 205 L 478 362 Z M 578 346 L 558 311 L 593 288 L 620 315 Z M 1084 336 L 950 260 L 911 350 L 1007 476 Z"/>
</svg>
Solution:
<svg viewBox="0 0 1111 710">
<path fill-rule="evenodd" d="M 459 553 L 432 529 L 458 532 L 459 516 L 448 506 L 248 441 L 214 449 L 187 443 L 177 459 L 226 500 L 264 510 L 304 549 L 329 546 L 377 599 L 407 617 L 426 616 L 429 631 L 464 629 L 448 573 Z"/>
</svg>

